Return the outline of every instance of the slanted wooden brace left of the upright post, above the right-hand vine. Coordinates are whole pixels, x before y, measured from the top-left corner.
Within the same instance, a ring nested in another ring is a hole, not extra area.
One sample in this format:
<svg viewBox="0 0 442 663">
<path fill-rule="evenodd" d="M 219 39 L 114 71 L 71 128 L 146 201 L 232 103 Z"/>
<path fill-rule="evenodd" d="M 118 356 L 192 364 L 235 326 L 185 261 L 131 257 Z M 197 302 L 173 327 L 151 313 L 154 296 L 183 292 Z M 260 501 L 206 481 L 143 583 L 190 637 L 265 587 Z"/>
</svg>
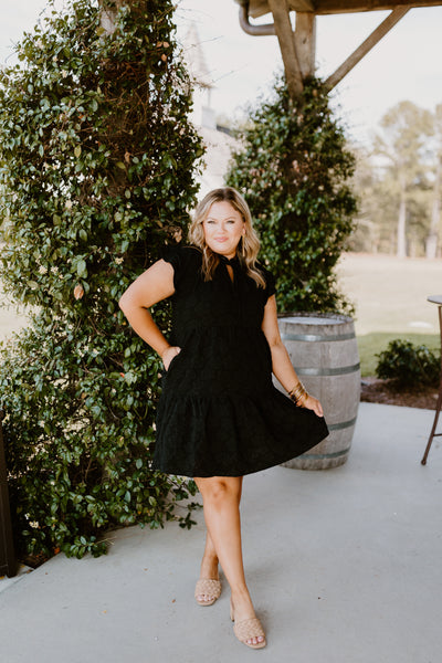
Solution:
<svg viewBox="0 0 442 663">
<path fill-rule="evenodd" d="M 296 99 L 302 94 L 304 86 L 290 20 L 288 2 L 287 0 L 269 0 L 269 7 L 273 14 L 276 36 L 280 42 L 288 94 L 292 99 Z"/>
</svg>

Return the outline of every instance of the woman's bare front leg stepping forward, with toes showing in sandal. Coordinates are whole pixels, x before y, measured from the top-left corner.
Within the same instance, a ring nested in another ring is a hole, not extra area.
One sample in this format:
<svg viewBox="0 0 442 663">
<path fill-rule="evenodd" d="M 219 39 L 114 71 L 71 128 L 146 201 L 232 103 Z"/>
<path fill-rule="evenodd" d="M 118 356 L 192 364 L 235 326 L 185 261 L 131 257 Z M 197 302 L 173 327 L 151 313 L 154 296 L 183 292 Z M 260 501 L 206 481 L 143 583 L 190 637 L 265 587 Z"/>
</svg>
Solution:
<svg viewBox="0 0 442 663">
<path fill-rule="evenodd" d="M 202 495 L 204 519 L 222 570 L 232 591 L 235 621 L 255 617 L 245 583 L 241 548 L 241 476 L 194 477 Z M 251 644 L 262 642 L 253 638 Z"/>
</svg>

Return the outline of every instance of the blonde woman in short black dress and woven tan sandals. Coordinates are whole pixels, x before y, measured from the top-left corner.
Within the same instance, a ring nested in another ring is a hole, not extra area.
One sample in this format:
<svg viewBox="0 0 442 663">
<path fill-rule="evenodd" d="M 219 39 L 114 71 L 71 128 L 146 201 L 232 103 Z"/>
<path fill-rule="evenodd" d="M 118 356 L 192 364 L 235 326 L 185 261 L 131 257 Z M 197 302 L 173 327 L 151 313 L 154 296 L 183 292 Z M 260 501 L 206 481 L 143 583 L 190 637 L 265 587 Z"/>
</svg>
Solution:
<svg viewBox="0 0 442 663">
<path fill-rule="evenodd" d="M 244 474 L 304 453 L 327 434 L 323 409 L 306 393 L 281 340 L 273 277 L 256 262 L 260 243 L 243 198 L 208 193 L 196 210 L 190 245 L 165 253 L 125 292 L 120 307 L 166 369 L 154 467 L 191 476 L 202 495 L 206 549 L 196 599 L 231 588 L 234 633 L 261 649 L 265 635 L 245 583 L 240 499 Z M 149 308 L 172 297 L 168 340 Z M 290 398 L 272 383 L 272 370 Z"/>
</svg>

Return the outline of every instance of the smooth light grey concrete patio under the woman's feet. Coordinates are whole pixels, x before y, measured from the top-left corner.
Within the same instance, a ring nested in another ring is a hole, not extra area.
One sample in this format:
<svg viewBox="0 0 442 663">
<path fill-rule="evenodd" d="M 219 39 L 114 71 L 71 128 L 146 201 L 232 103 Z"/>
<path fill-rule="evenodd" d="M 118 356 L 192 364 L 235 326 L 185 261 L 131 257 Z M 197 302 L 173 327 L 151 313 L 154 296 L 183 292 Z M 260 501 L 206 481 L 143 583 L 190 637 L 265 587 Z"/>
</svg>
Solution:
<svg viewBox="0 0 442 663">
<path fill-rule="evenodd" d="M 343 467 L 244 481 L 244 557 L 267 648 L 233 636 L 229 591 L 193 601 L 204 527 L 131 527 L 105 557 L 0 580 L 1 663 L 439 663 L 442 445 L 433 412 L 361 403 Z"/>
</svg>

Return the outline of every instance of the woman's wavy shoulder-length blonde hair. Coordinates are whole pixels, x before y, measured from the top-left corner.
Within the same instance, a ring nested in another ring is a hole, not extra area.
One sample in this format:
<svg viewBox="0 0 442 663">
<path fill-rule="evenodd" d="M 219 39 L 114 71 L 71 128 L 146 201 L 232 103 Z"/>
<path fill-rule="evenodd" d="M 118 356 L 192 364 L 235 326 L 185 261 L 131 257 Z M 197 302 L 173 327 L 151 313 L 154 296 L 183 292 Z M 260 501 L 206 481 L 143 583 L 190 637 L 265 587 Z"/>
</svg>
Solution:
<svg viewBox="0 0 442 663">
<path fill-rule="evenodd" d="M 204 196 L 194 210 L 193 220 L 189 228 L 189 242 L 202 251 L 202 273 L 204 281 L 211 281 L 213 273 L 220 262 L 219 255 L 206 243 L 202 223 L 206 221 L 209 210 L 214 202 L 230 202 L 232 208 L 241 214 L 244 221 L 245 233 L 236 246 L 236 256 L 243 265 L 248 276 L 253 278 L 259 287 L 265 287 L 263 273 L 256 266 L 260 240 L 252 225 L 252 215 L 243 197 L 232 187 L 213 189 Z"/>
</svg>

